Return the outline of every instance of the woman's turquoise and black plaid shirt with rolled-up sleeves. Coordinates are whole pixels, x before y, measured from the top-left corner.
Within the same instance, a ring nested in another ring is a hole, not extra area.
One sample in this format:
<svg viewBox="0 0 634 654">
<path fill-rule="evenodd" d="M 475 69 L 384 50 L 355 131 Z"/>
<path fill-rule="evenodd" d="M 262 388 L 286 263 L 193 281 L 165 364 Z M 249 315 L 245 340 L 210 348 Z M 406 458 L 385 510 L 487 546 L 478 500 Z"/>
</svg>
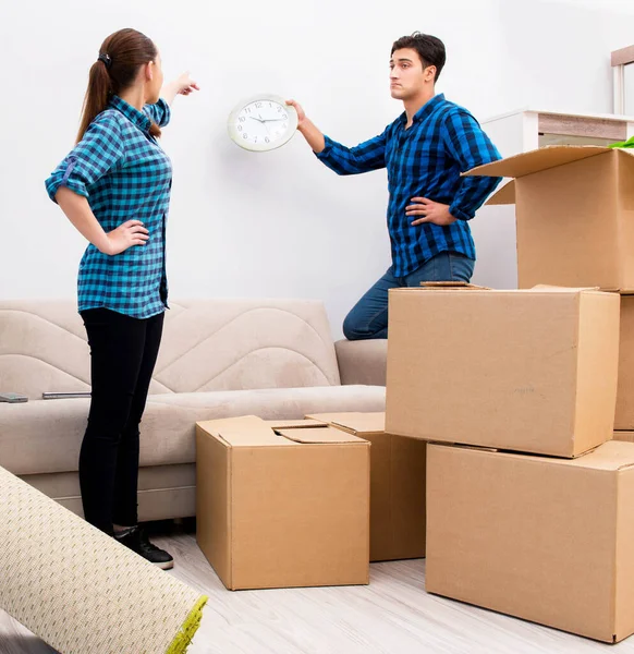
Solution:
<svg viewBox="0 0 634 654">
<path fill-rule="evenodd" d="M 53 202 L 60 186 L 87 197 L 106 232 L 126 220 L 141 220 L 149 231 L 145 245 L 121 254 L 102 254 L 88 245 L 80 263 L 80 311 L 105 307 L 148 318 L 167 306 L 166 219 L 172 166 L 149 129 L 153 121 L 162 126 L 169 120 L 170 108 L 162 99 L 142 112 L 113 96 L 46 181 Z"/>
</svg>

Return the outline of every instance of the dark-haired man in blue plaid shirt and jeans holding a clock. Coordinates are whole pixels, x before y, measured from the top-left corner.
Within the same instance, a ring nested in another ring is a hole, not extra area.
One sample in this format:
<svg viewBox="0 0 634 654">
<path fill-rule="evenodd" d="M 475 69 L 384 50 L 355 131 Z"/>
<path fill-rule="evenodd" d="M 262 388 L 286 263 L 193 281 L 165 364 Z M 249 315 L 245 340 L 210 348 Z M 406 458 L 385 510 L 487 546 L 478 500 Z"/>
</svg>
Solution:
<svg viewBox="0 0 634 654">
<path fill-rule="evenodd" d="M 499 179 L 467 177 L 500 154 L 475 118 L 436 95 L 444 45 L 414 33 L 392 46 L 390 90 L 405 111 L 382 134 L 356 147 L 325 136 L 294 100 L 298 131 L 317 157 L 339 174 L 388 169 L 388 230 L 392 266 L 343 323 L 350 340 L 388 337 L 388 290 L 422 281 L 470 281 L 475 246 L 468 227 Z"/>
</svg>

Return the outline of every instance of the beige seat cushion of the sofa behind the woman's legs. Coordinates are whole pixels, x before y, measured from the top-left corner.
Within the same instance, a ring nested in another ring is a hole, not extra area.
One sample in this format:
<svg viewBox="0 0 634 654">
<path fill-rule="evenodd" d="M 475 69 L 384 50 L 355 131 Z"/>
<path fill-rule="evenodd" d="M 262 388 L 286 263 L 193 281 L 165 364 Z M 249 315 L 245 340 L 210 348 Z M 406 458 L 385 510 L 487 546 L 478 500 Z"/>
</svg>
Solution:
<svg viewBox="0 0 634 654">
<path fill-rule="evenodd" d="M 141 465 L 193 463 L 200 420 L 385 411 L 385 393 L 380 386 L 325 386 L 154 395 L 141 425 Z M 76 471 L 88 405 L 83 398 L 0 403 L 0 465 L 14 474 Z"/>
</svg>

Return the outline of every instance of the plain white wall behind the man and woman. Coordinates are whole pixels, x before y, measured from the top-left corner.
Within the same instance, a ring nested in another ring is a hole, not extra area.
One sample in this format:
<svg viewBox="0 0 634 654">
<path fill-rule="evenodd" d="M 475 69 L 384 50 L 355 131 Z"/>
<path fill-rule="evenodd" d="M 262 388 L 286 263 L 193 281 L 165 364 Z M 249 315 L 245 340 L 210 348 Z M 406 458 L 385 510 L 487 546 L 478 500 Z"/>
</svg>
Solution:
<svg viewBox="0 0 634 654">
<path fill-rule="evenodd" d="M 44 180 L 73 144 L 99 45 L 120 27 L 155 39 L 168 76 L 190 68 L 203 87 L 176 99 L 163 138 L 175 170 L 172 298 L 318 298 L 339 336 L 390 263 L 385 172 L 338 178 L 300 135 L 273 153 L 243 152 L 225 132 L 233 105 L 258 90 L 293 96 L 353 145 L 401 111 L 389 49 L 420 29 L 448 47 L 439 90 L 479 119 L 528 105 L 608 112 L 609 55 L 634 40 L 633 14 L 618 0 L 3 2 L 0 298 L 74 298 L 84 243 Z"/>
</svg>

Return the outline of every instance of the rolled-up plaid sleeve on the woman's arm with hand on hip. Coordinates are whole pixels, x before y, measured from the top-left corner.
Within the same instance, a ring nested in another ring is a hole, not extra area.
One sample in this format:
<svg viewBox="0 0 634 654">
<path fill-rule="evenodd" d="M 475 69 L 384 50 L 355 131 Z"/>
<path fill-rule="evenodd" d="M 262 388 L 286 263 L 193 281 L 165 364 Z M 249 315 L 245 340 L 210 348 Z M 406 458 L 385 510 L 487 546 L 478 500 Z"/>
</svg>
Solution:
<svg viewBox="0 0 634 654">
<path fill-rule="evenodd" d="M 124 158 L 121 126 L 117 118 L 98 116 L 84 137 L 46 180 L 49 197 L 56 201 L 60 186 L 89 197 L 90 186 Z"/>
</svg>

